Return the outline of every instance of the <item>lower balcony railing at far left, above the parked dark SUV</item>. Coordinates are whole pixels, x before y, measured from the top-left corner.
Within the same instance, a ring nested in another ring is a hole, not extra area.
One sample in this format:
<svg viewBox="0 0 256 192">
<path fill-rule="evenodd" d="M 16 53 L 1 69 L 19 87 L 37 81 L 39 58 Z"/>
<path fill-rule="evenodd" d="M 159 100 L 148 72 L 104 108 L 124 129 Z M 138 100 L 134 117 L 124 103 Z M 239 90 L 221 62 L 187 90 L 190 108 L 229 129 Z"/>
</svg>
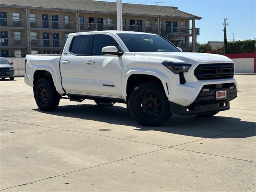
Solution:
<svg viewBox="0 0 256 192">
<path fill-rule="evenodd" d="M 26 48 L 27 39 L 1 38 L 1 48 Z"/>
</svg>

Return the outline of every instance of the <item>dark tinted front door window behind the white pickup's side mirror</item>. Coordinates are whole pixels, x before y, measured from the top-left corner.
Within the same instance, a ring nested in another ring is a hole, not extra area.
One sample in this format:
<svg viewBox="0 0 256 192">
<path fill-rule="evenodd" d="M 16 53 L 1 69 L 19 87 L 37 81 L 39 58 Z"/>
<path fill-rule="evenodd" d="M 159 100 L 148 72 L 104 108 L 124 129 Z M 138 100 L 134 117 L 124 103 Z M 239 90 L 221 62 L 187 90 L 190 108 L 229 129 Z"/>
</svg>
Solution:
<svg viewBox="0 0 256 192">
<path fill-rule="evenodd" d="M 118 43 L 109 35 L 94 35 L 92 55 L 102 55 L 102 48 L 106 46 L 118 48 Z"/>
</svg>

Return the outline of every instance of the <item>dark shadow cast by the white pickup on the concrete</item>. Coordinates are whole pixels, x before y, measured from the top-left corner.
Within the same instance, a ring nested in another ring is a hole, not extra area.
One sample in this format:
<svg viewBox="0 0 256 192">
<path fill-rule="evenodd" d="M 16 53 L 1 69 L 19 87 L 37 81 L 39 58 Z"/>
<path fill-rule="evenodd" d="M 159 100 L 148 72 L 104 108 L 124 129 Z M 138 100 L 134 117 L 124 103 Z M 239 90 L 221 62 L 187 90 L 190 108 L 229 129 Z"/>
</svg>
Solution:
<svg viewBox="0 0 256 192">
<path fill-rule="evenodd" d="M 44 112 L 39 109 L 33 110 L 54 116 L 132 126 L 135 127 L 134 130 L 136 131 L 154 130 L 203 138 L 247 138 L 256 135 L 255 122 L 242 121 L 240 118 L 221 116 L 221 112 L 218 116 L 213 116 L 211 118 L 173 115 L 172 118 L 162 126 L 145 127 L 140 126 L 140 124 L 133 120 L 126 108 L 122 106 L 78 104 L 58 106 L 53 112 Z M 56 118 L 56 121 L 58 121 L 58 118 Z"/>
</svg>

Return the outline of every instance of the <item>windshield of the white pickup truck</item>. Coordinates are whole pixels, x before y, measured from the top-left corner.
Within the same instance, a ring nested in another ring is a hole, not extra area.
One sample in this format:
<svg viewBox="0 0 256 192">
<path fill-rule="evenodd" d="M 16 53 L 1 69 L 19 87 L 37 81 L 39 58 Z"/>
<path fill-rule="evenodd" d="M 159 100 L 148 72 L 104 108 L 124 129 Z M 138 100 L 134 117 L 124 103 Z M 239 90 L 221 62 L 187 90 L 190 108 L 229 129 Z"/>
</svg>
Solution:
<svg viewBox="0 0 256 192">
<path fill-rule="evenodd" d="M 158 35 L 117 34 L 130 52 L 179 52 L 170 42 Z"/>
</svg>

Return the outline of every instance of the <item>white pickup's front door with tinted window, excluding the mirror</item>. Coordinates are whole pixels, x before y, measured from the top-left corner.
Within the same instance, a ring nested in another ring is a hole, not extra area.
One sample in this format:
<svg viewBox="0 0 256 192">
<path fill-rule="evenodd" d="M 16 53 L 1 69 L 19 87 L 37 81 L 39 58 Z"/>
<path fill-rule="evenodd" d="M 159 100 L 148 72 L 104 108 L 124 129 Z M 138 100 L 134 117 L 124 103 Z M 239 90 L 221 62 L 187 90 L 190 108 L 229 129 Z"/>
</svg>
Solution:
<svg viewBox="0 0 256 192">
<path fill-rule="evenodd" d="M 86 58 L 86 93 L 122 96 L 122 56 L 102 55 L 105 46 L 118 46 L 118 40 L 107 34 L 92 36 L 91 56 Z"/>
</svg>

